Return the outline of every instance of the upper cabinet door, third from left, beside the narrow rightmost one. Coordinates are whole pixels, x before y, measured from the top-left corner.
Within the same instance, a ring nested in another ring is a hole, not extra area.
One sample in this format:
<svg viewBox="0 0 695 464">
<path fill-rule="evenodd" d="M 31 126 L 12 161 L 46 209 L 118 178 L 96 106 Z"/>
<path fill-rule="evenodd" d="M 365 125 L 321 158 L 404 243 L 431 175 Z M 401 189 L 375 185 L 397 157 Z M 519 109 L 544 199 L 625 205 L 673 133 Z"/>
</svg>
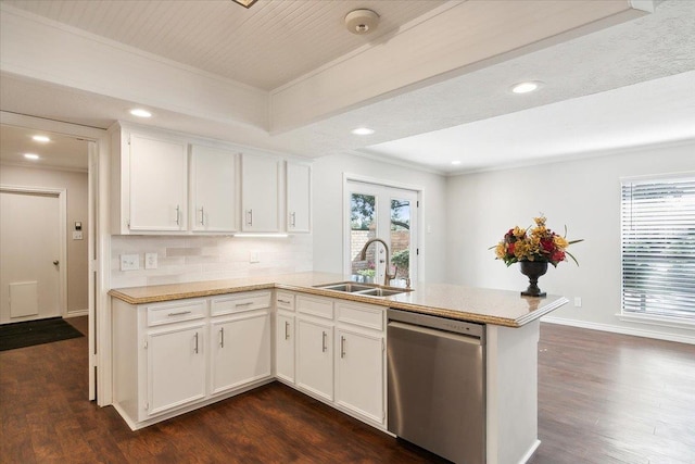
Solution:
<svg viewBox="0 0 695 464">
<path fill-rule="evenodd" d="M 277 159 L 243 154 L 241 159 L 241 201 L 243 231 L 273 233 L 280 229 L 278 218 Z"/>
</svg>

